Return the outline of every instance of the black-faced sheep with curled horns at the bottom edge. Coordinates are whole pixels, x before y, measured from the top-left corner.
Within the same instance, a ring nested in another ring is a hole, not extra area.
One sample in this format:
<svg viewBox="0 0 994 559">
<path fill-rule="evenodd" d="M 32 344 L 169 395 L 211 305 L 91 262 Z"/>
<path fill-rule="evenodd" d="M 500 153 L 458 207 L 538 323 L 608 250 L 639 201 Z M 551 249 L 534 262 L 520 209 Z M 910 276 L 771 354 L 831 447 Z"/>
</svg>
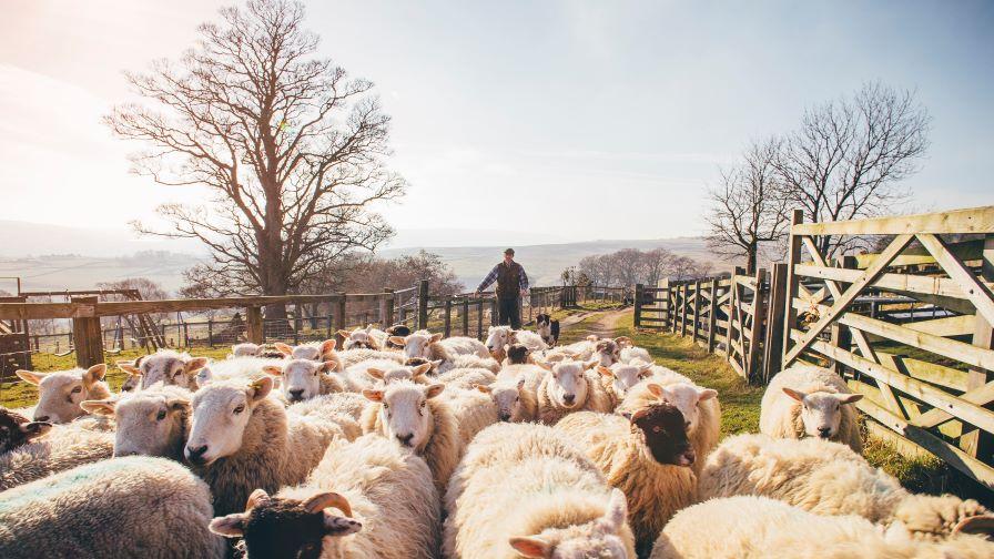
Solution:
<svg viewBox="0 0 994 559">
<path fill-rule="evenodd" d="M 256 490 L 244 512 L 210 527 L 243 538 L 250 559 L 409 559 L 436 557 L 439 517 L 425 461 L 367 435 L 329 449 L 305 484 Z"/>
</svg>

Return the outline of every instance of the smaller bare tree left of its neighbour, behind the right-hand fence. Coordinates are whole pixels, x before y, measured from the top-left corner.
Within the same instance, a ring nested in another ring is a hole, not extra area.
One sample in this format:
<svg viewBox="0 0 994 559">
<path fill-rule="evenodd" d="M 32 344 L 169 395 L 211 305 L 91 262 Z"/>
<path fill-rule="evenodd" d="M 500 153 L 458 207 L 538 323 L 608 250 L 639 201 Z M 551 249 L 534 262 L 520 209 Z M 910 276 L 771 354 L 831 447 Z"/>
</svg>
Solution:
<svg viewBox="0 0 994 559">
<path fill-rule="evenodd" d="M 723 256 L 744 256 L 750 274 L 763 247 L 779 243 L 790 224 L 788 199 L 777 181 L 778 152 L 775 139 L 753 142 L 742 164 L 722 171 L 720 186 L 709 192 L 708 246 Z"/>
</svg>

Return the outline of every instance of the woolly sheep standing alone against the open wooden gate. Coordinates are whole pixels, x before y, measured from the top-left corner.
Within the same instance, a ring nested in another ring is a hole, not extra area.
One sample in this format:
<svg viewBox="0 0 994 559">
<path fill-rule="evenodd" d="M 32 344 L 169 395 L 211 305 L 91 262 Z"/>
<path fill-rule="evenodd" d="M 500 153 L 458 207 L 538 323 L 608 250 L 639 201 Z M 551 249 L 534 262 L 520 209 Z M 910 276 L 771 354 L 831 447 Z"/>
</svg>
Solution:
<svg viewBox="0 0 994 559">
<path fill-rule="evenodd" d="M 852 394 L 842 377 L 815 366 L 783 370 L 767 386 L 759 415 L 759 430 L 778 438 L 820 437 L 863 451 Z"/>
</svg>

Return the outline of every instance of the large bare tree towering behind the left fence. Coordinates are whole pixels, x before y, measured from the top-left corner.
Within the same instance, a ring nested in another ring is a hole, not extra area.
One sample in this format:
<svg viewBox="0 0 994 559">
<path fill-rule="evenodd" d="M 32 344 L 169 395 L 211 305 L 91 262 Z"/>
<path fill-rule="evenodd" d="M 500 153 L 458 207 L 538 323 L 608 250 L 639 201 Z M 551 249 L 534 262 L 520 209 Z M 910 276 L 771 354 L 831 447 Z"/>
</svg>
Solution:
<svg viewBox="0 0 994 559">
<path fill-rule="evenodd" d="M 136 224 L 204 243 L 212 260 L 191 273 L 207 292 L 293 293 L 323 263 L 392 234 L 374 212 L 405 187 L 385 164 L 389 118 L 371 82 L 317 57 L 303 21 L 287 0 L 225 8 L 178 61 L 126 74 L 144 102 L 106 118 L 149 145 L 134 172 L 210 189 L 210 204 L 160 206 L 170 228 Z"/>
</svg>

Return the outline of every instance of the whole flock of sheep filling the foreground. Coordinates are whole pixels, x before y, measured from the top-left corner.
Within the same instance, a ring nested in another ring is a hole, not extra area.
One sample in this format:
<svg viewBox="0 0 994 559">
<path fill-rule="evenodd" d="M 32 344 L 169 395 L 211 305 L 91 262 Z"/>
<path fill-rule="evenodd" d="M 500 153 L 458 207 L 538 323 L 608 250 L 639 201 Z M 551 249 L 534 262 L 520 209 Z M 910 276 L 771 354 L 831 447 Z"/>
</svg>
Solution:
<svg viewBox="0 0 994 559">
<path fill-rule="evenodd" d="M 0 557 L 991 558 L 994 516 L 861 456 L 859 395 L 780 373 L 761 434 L 628 338 L 403 326 L 211 362 L 18 372 Z M 29 420 L 32 417 L 33 420 Z"/>
</svg>

